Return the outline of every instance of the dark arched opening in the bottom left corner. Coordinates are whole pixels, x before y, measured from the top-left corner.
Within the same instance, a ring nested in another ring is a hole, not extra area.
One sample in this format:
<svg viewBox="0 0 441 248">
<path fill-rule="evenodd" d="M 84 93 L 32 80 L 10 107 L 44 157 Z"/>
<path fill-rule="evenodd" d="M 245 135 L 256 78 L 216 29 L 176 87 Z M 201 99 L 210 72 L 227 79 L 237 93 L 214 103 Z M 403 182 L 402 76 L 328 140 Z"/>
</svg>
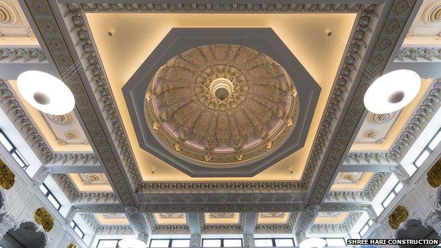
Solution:
<svg viewBox="0 0 441 248">
<path fill-rule="evenodd" d="M 33 222 L 25 222 L 17 229 L 10 229 L 0 240 L 0 245 L 8 248 L 43 248 L 46 235 Z"/>
</svg>

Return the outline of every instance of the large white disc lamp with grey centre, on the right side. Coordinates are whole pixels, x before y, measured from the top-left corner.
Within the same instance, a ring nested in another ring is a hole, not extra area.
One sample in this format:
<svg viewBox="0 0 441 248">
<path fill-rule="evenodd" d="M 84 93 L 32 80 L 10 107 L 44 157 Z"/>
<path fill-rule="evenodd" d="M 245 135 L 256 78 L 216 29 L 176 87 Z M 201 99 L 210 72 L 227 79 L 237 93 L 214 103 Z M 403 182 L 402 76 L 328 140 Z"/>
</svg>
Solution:
<svg viewBox="0 0 441 248">
<path fill-rule="evenodd" d="M 396 112 L 418 95 L 421 78 L 412 70 L 395 70 L 380 76 L 367 89 L 365 107 L 374 114 Z"/>
</svg>

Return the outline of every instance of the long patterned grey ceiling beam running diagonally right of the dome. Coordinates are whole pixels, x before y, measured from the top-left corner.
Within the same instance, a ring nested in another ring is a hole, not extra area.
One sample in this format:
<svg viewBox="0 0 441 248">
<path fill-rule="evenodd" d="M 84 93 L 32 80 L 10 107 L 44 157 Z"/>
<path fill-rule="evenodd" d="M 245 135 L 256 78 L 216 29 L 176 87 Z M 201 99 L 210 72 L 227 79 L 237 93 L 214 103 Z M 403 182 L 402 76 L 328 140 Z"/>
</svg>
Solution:
<svg viewBox="0 0 441 248">
<path fill-rule="evenodd" d="M 407 6 L 403 6 L 402 3 L 407 4 Z M 382 74 L 387 63 L 395 59 L 393 52 L 398 53 L 400 45 L 421 4 L 422 0 L 385 2 L 376 20 L 376 27 L 379 28 L 375 28 L 371 34 L 371 40 L 368 43 L 369 45 L 367 45 L 365 55 L 362 56 L 361 63 L 366 63 L 376 74 Z M 397 10 L 400 8 L 405 8 L 406 11 L 400 10 L 397 13 Z M 370 18 L 373 23 L 373 17 Z M 396 23 L 396 25 L 391 30 L 391 25 L 387 23 Z M 386 39 L 389 41 L 387 44 L 384 43 Z M 325 200 L 325 196 L 332 185 L 331 182 L 336 175 L 337 168 L 345 162 L 349 149 L 358 134 L 358 130 L 360 130 L 362 120 L 364 120 L 367 114 L 362 98 L 373 80 L 371 76 L 366 74 L 365 70 L 358 70 L 352 76 L 354 79 L 353 85 L 351 90 L 349 90 L 347 101 L 342 107 L 343 113 L 340 115 L 342 118 L 336 125 L 335 131 L 331 134 L 331 145 L 325 149 L 325 154 L 320 164 L 321 169 L 317 173 L 318 176 L 314 178 L 315 187 L 311 187 L 307 197 L 309 211 L 302 213 L 304 218 L 299 222 L 296 229 L 296 236 L 300 240 L 305 238 L 306 232 L 311 228 L 316 217 L 316 209 Z"/>
</svg>

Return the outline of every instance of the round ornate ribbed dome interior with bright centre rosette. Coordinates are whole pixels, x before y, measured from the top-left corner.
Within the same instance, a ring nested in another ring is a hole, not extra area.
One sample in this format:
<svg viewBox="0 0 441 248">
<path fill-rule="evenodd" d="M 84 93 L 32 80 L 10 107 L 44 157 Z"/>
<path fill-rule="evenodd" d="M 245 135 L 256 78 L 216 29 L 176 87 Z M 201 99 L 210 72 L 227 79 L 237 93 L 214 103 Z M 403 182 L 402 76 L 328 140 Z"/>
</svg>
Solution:
<svg viewBox="0 0 441 248">
<path fill-rule="evenodd" d="M 245 163 L 282 145 L 298 96 L 285 69 L 241 45 L 192 48 L 167 61 L 145 95 L 154 137 L 198 165 Z"/>
</svg>

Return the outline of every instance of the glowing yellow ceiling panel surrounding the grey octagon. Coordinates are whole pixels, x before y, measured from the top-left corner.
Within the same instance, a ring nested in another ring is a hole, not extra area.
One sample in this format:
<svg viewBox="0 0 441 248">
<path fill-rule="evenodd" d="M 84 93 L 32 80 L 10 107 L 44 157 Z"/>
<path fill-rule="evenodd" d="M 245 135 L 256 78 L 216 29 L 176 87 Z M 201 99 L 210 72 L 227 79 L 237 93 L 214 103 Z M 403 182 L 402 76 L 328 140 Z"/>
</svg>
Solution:
<svg viewBox="0 0 441 248">
<path fill-rule="evenodd" d="M 212 15 L 88 12 L 85 16 L 94 40 L 97 42 L 101 41 L 109 30 L 114 29 L 116 31 L 111 39 L 108 39 L 102 45 L 99 44 L 99 54 L 143 180 L 206 181 L 214 180 L 214 178 L 192 178 L 187 176 L 139 147 L 138 142 L 136 142 L 134 125 L 130 120 L 129 111 L 121 92 L 121 88 L 136 72 L 141 63 L 152 54 L 165 35 L 172 28 L 188 27 L 271 28 L 276 32 L 321 88 L 305 145 L 298 152 L 254 177 L 216 178 L 216 180 L 300 180 L 342 57 L 342 49 L 327 38 L 324 30 L 325 28 L 333 30 L 334 34 L 338 35 L 345 44 L 356 14 Z M 323 56 L 323 54 L 327 54 L 327 56 Z M 154 174 L 151 173 L 152 171 L 154 171 Z M 289 172 L 294 173 L 290 174 Z"/>
</svg>

